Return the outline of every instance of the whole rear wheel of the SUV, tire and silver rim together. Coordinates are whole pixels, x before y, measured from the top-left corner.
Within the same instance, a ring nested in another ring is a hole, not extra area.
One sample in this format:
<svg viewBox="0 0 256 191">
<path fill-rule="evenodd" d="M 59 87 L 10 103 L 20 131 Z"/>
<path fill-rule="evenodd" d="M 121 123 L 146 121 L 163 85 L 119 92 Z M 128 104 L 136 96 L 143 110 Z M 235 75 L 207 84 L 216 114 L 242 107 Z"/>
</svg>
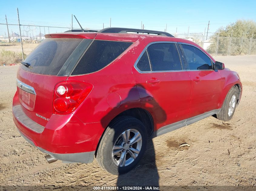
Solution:
<svg viewBox="0 0 256 191">
<path fill-rule="evenodd" d="M 106 129 L 98 147 L 96 159 L 111 174 L 123 174 L 133 169 L 147 147 L 144 124 L 130 116 L 123 116 Z"/>
</svg>

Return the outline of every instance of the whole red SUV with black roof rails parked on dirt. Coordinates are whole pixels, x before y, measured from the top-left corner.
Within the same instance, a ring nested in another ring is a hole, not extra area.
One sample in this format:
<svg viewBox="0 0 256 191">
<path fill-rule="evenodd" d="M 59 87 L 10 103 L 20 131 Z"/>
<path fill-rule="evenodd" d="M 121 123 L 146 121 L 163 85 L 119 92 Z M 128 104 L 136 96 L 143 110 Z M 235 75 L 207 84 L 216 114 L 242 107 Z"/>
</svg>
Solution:
<svg viewBox="0 0 256 191">
<path fill-rule="evenodd" d="M 17 72 L 13 119 L 48 162 L 131 170 L 150 138 L 216 115 L 228 121 L 242 84 L 200 46 L 127 28 L 46 39 Z"/>
</svg>

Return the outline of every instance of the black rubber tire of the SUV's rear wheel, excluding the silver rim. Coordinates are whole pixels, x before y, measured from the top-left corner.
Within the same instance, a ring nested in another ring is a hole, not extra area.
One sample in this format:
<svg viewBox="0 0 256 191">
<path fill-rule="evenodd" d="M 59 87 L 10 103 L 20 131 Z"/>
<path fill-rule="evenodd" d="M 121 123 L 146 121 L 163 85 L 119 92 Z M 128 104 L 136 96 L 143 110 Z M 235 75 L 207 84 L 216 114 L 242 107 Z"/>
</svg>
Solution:
<svg viewBox="0 0 256 191">
<path fill-rule="evenodd" d="M 138 153 L 137 158 L 135 158 L 131 164 L 128 164 L 124 167 L 119 167 L 114 163 L 112 159 L 112 149 L 118 137 L 128 129 L 136 129 L 141 134 L 141 150 Z M 99 165 L 111 174 L 118 175 L 127 173 L 128 171 L 132 170 L 141 160 L 147 148 L 147 141 L 147 130 L 140 120 L 130 116 L 119 117 L 118 119 L 110 123 L 104 135 L 102 136 L 101 142 L 98 146 L 96 159 Z"/>
</svg>

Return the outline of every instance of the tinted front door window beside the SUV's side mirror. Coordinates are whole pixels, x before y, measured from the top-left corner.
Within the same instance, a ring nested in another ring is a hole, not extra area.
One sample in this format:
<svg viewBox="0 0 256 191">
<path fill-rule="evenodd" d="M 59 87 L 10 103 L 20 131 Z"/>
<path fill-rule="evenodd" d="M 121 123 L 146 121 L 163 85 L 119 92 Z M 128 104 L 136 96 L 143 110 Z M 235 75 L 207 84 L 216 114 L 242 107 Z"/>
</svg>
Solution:
<svg viewBox="0 0 256 191">
<path fill-rule="evenodd" d="M 212 70 L 211 59 L 194 46 L 181 44 L 190 70 Z"/>
</svg>

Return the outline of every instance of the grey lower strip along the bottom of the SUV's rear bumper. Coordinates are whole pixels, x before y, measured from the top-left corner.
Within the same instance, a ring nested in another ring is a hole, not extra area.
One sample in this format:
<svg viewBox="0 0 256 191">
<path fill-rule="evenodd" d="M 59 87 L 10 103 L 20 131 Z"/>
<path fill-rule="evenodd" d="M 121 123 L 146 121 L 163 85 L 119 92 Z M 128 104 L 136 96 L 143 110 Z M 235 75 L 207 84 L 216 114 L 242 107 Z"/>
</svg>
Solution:
<svg viewBox="0 0 256 191">
<path fill-rule="evenodd" d="M 38 148 L 40 151 L 42 151 L 46 154 L 49 154 L 53 158 L 61 160 L 63 162 L 91 163 L 94 159 L 95 151 L 82 152 L 82 153 L 70 153 L 70 154 L 52 153 L 52 152 L 46 151 L 45 149 L 42 149 L 41 147 L 35 146 L 33 141 L 31 141 L 28 137 L 26 137 L 22 132 L 20 132 L 20 134 L 22 135 L 22 137 L 24 137 L 26 139 L 27 142 L 29 142 L 34 147 Z"/>
</svg>

